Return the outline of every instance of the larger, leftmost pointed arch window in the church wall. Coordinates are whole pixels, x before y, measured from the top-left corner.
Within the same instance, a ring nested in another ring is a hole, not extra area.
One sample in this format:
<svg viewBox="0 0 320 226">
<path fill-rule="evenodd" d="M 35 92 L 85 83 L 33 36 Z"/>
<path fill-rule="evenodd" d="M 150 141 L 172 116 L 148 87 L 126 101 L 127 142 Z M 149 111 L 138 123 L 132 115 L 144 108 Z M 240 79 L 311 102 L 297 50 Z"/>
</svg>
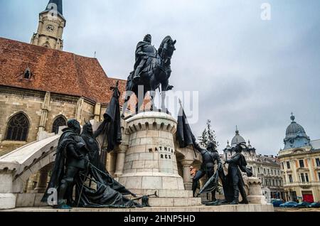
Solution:
<svg viewBox="0 0 320 226">
<path fill-rule="evenodd" d="M 23 113 L 18 113 L 12 117 L 6 131 L 8 141 L 26 141 L 28 138 L 29 120 Z"/>
</svg>

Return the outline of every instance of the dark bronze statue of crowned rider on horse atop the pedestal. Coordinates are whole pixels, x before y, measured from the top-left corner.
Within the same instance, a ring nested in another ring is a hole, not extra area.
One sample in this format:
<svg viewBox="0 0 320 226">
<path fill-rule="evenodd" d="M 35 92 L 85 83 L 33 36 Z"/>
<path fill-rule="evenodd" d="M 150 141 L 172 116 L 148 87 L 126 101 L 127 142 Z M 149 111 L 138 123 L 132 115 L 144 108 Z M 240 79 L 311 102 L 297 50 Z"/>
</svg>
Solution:
<svg viewBox="0 0 320 226">
<path fill-rule="evenodd" d="M 171 58 L 176 50 L 174 41 L 170 36 L 166 36 L 162 41 L 158 50 L 151 45 L 151 35 L 146 35 L 144 41 L 140 41 L 137 45 L 135 53 L 136 63 L 134 70 L 130 73 L 127 80 L 127 96 L 123 106 L 122 118 L 128 107 L 128 102 L 132 94 L 136 95 L 138 101 L 136 104 L 136 112 L 144 103 L 143 99 L 147 92 L 150 92 L 151 111 L 154 107 L 154 97 L 156 90 L 161 86 L 161 111 L 168 112 L 165 106 L 166 91 L 172 90 L 174 87 L 169 85 L 169 77 L 171 76 Z M 139 97 L 139 88 L 143 87 L 142 95 Z"/>
</svg>

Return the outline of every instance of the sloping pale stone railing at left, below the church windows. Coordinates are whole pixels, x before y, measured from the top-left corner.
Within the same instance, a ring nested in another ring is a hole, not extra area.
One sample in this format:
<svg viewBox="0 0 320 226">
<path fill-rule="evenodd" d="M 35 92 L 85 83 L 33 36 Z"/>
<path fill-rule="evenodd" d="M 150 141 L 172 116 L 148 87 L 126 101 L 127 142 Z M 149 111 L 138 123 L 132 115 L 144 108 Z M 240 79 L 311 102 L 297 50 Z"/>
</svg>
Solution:
<svg viewBox="0 0 320 226">
<path fill-rule="evenodd" d="M 55 161 L 59 137 L 27 144 L 0 157 L 0 209 L 15 208 L 28 178 Z"/>
</svg>

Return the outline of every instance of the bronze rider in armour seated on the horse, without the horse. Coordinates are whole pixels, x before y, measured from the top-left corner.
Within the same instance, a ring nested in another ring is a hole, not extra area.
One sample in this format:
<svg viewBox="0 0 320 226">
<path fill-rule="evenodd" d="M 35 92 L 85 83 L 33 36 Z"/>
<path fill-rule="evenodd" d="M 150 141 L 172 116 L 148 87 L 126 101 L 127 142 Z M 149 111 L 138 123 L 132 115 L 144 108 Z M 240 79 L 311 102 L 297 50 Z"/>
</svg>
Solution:
<svg viewBox="0 0 320 226">
<path fill-rule="evenodd" d="M 151 45 L 151 35 L 146 35 L 144 41 L 141 41 L 137 45 L 136 49 L 136 63 L 134 64 L 134 82 L 139 82 L 140 75 L 152 62 L 152 58 L 156 58 L 156 48 Z"/>
</svg>

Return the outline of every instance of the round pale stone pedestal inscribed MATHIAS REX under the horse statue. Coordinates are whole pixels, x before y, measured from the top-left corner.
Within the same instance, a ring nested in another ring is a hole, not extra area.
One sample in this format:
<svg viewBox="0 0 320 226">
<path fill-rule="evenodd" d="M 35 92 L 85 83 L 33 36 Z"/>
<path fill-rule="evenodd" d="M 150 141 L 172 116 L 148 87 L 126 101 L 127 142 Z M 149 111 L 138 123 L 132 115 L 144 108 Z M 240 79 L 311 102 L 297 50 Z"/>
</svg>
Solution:
<svg viewBox="0 0 320 226">
<path fill-rule="evenodd" d="M 157 191 L 152 206 L 201 205 L 178 175 L 174 134 L 176 120 L 162 112 L 144 112 L 126 120 L 129 146 L 119 183 L 139 195 Z M 190 170 L 189 170 L 190 171 Z"/>
</svg>

